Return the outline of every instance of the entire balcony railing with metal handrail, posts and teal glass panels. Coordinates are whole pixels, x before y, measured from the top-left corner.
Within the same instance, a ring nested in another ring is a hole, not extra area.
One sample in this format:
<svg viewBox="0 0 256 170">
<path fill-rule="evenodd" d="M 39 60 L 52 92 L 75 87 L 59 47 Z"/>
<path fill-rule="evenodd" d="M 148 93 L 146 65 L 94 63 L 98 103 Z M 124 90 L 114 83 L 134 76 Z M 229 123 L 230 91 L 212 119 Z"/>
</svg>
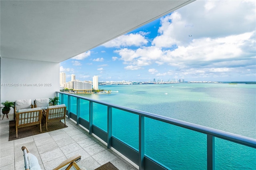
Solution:
<svg viewBox="0 0 256 170">
<path fill-rule="evenodd" d="M 214 170 L 215 167 L 218 169 L 221 166 L 220 159 L 223 159 L 223 156 L 220 156 L 220 150 L 227 149 L 226 158 L 230 159 L 230 155 L 228 155 L 230 150 L 240 146 L 242 147 L 240 150 L 243 152 L 241 158 L 244 159 L 243 162 L 248 166 L 246 168 L 253 169 L 256 167 L 256 139 L 254 138 L 78 95 L 56 92 L 56 96 L 60 97 L 61 104 L 66 104 L 68 118 L 76 121 L 77 125 L 87 128 L 90 134 L 93 133 L 101 138 L 107 143 L 108 148 L 112 147 L 126 156 L 137 164 L 140 170 L 172 169 L 172 165 L 166 165 L 166 160 L 159 160 L 158 157 L 161 154 L 165 158 L 170 156 L 164 154 L 164 150 L 167 147 L 173 147 L 173 152 L 185 152 L 186 156 L 180 156 L 179 154 L 182 153 L 176 153 L 176 157 L 166 158 L 167 162 L 178 159 L 184 160 L 181 164 L 176 165 L 180 169 L 184 169 L 182 168 L 183 164 L 190 164 L 191 166 L 189 167 L 191 169 L 192 167 L 199 169 L 198 166 L 201 169 L 207 168 L 207 170 Z M 124 131 L 123 129 L 128 130 Z M 188 131 L 192 133 L 192 137 L 186 135 Z M 162 135 L 162 133 L 166 133 L 170 138 Z M 156 140 L 152 140 L 154 137 L 148 137 L 148 134 L 156 136 Z M 127 139 L 127 136 L 130 136 L 133 140 Z M 169 142 L 169 140 L 173 141 Z M 216 144 L 216 140 L 218 144 Z M 158 141 L 166 141 L 166 144 L 158 146 Z M 188 150 L 182 149 L 182 145 L 188 145 L 186 146 Z M 182 151 L 178 150 L 179 147 L 181 147 Z M 231 149 L 228 147 L 231 147 Z M 150 152 L 151 150 L 154 154 Z M 200 153 L 198 154 L 197 152 Z M 194 154 L 196 154 L 196 158 L 194 158 Z M 236 157 L 236 154 L 240 155 L 240 153 L 233 153 L 232 156 Z M 237 159 L 241 158 L 238 157 Z M 195 159 L 201 160 L 202 164 L 192 165 Z M 236 162 L 236 160 L 234 161 Z M 248 161 L 251 164 L 248 165 Z M 225 163 L 222 166 L 226 166 Z M 190 168 L 186 167 L 186 169 Z"/>
</svg>

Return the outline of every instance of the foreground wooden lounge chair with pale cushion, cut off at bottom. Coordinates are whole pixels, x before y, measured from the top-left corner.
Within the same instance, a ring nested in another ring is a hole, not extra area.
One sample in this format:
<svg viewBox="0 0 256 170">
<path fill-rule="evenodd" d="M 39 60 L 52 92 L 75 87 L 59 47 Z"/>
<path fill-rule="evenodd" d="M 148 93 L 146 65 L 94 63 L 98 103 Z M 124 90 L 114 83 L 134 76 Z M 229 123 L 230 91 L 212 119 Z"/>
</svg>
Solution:
<svg viewBox="0 0 256 170">
<path fill-rule="evenodd" d="M 23 154 L 24 154 L 25 170 L 41 170 L 41 167 L 38 163 L 38 159 L 36 158 L 36 156 L 31 154 L 26 146 L 22 146 L 21 149 L 22 149 Z M 74 166 L 74 168 L 76 168 L 76 170 L 80 170 L 79 166 L 76 164 L 76 162 L 78 162 L 80 160 L 81 160 L 81 155 L 76 154 L 75 156 L 72 156 L 71 158 L 69 158 L 69 159 L 63 161 L 62 163 L 60 163 L 53 170 L 59 170 L 59 169 L 63 168 L 64 166 L 68 165 L 68 164 L 69 165 L 66 168 L 66 170 L 69 170 L 72 166 Z"/>
</svg>

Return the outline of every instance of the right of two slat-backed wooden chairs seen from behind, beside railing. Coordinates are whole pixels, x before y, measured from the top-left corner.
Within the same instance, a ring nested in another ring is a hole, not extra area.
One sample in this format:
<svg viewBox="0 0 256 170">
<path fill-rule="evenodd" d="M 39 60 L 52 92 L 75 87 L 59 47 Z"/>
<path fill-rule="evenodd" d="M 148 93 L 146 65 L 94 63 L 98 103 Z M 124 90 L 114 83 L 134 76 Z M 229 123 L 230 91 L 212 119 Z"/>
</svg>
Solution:
<svg viewBox="0 0 256 170">
<path fill-rule="evenodd" d="M 66 126 L 66 105 L 54 105 L 48 106 L 47 109 L 43 111 L 43 124 L 46 122 L 46 130 L 47 123 L 51 121 L 58 121 L 64 119 L 64 126 Z"/>
</svg>

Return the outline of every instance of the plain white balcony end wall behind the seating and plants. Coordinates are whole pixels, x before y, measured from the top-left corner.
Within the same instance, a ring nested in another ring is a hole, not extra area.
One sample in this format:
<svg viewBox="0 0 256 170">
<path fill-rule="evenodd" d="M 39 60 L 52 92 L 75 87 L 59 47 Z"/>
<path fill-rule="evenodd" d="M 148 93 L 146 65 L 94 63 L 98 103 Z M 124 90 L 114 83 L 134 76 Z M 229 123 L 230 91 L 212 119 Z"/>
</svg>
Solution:
<svg viewBox="0 0 256 170">
<path fill-rule="evenodd" d="M 60 89 L 59 72 L 59 63 L 1 59 L 1 103 L 54 97 Z"/>
</svg>

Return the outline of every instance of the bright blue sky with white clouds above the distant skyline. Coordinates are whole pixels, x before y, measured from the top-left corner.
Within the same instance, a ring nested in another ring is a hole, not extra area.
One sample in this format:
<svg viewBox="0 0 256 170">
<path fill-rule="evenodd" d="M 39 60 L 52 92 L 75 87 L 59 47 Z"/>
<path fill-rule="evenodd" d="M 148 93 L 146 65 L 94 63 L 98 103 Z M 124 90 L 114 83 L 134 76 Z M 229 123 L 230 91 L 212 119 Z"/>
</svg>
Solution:
<svg viewBox="0 0 256 170">
<path fill-rule="evenodd" d="M 192 2 L 63 61 L 60 72 L 66 81 L 256 81 L 255 4 Z"/>
</svg>

